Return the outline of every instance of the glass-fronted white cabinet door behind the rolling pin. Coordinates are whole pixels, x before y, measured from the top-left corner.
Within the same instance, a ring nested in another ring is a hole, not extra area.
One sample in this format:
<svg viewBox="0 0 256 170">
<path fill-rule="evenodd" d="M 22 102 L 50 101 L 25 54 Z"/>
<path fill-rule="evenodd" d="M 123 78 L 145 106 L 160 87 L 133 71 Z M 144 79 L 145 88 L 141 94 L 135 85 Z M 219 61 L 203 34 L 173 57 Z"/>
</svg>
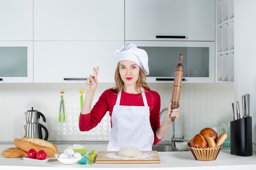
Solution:
<svg viewBox="0 0 256 170">
<path fill-rule="evenodd" d="M 215 77 L 215 42 L 126 41 L 135 43 L 148 54 L 148 83 L 173 82 L 175 69 L 183 53 L 183 82 L 213 83 Z"/>
</svg>

